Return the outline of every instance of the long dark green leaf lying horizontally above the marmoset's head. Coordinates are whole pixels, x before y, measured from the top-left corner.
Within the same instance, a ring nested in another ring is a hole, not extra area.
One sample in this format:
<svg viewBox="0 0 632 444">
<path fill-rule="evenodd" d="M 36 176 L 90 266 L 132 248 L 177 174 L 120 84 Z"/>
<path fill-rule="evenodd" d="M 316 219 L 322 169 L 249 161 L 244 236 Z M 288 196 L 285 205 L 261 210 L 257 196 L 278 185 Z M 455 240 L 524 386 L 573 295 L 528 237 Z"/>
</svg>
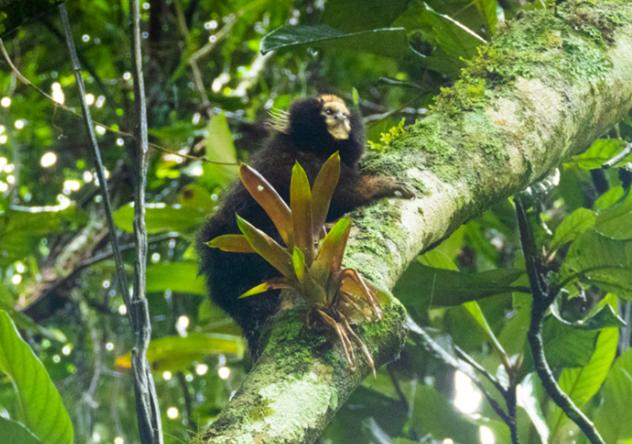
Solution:
<svg viewBox="0 0 632 444">
<path fill-rule="evenodd" d="M 283 26 L 265 35 L 260 51 L 291 47 L 341 47 L 386 57 L 400 57 L 408 52 L 404 28 L 382 28 L 344 33 L 328 25 Z"/>
</svg>

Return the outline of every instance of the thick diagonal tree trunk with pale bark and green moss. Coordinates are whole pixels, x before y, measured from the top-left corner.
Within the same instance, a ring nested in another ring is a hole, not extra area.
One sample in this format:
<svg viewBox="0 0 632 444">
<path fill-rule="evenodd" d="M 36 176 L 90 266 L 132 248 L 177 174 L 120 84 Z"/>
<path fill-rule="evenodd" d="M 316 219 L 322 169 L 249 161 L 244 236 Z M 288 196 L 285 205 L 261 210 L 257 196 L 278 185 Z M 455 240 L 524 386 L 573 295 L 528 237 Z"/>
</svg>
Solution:
<svg viewBox="0 0 632 444">
<path fill-rule="evenodd" d="M 370 156 L 367 169 L 398 176 L 418 197 L 356 210 L 344 264 L 392 288 L 420 251 L 583 152 L 630 107 L 631 2 L 568 1 L 507 23 L 427 117 Z M 376 366 L 396 359 L 406 333 L 401 304 L 385 311 L 358 327 Z M 205 441 L 310 443 L 370 373 L 359 350 L 350 371 L 336 337 L 297 313 L 277 315 Z"/>
</svg>

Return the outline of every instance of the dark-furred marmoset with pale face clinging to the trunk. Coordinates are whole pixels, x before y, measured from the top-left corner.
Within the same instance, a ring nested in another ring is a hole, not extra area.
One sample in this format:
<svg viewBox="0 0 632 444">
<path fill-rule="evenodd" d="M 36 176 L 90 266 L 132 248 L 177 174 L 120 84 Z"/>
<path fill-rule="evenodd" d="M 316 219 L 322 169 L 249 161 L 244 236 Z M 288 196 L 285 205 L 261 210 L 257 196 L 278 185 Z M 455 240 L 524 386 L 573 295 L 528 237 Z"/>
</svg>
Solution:
<svg viewBox="0 0 632 444">
<path fill-rule="evenodd" d="M 273 125 L 276 135 L 250 163 L 289 205 L 292 167 L 298 162 L 313 184 L 320 167 L 334 152 L 340 153 L 340 179 L 331 200 L 327 221 L 336 220 L 353 208 L 382 197 L 413 198 L 410 186 L 394 177 L 360 174 L 364 153 L 364 128 L 359 116 L 349 112 L 335 95 L 300 100 L 289 114 Z M 207 275 L 210 297 L 243 330 L 253 358 L 265 321 L 279 309 L 279 291 L 238 299 L 244 292 L 279 272 L 254 253 L 229 253 L 209 248 L 205 242 L 222 234 L 241 234 L 235 213 L 283 244 L 281 236 L 263 208 L 250 196 L 241 181 L 233 184 L 224 204 L 198 236 L 200 272 Z"/>
</svg>

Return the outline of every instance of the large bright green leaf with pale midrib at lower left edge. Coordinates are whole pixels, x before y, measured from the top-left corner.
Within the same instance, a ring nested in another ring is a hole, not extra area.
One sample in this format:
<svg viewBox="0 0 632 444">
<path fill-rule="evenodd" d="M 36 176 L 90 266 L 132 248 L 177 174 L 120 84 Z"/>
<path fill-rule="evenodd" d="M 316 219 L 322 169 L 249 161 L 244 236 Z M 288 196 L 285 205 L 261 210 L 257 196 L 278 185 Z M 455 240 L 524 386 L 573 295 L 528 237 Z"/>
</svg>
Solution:
<svg viewBox="0 0 632 444">
<path fill-rule="evenodd" d="M 0 310 L 0 371 L 13 382 L 19 416 L 33 435 L 46 444 L 71 444 L 73 424 L 59 392 L 4 310 Z"/>
</svg>

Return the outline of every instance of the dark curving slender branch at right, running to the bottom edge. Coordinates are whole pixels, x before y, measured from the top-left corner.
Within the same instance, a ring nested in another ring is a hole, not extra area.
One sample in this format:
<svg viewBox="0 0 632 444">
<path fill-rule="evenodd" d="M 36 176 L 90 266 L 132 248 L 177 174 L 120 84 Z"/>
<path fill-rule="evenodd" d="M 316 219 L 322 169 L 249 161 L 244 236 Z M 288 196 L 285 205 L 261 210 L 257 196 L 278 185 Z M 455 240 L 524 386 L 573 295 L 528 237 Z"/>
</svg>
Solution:
<svg viewBox="0 0 632 444">
<path fill-rule="evenodd" d="M 605 444 L 604 439 L 599 435 L 599 431 L 597 431 L 590 419 L 578 409 L 573 400 L 557 385 L 549 363 L 547 363 L 547 359 L 544 356 L 542 319 L 552 303 L 555 294 L 549 294 L 550 290 L 544 279 L 544 270 L 541 270 L 540 256 L 538 256 L 535 240 L 533 239 L 533 231 L 526 219 L 523 203 L 520 197 L 514 198 L 514 202 L 516 203 L 516 217 L 518 218 L 518 227 L 520 228 L 520 240 L 525 255 L 526 273 L 529 277 L 529 284 L 533 294 L 531 323 L 529 331 L 526 333 L 526 337 L 531 345 L 533 365 L 542 381 L 542 386 L 551 399 L 564 411 L 566 416 L 578 425 L 581 431 L 585 433 L 586 438 L 588 438 L 592 444 Z"/>
</svg>

